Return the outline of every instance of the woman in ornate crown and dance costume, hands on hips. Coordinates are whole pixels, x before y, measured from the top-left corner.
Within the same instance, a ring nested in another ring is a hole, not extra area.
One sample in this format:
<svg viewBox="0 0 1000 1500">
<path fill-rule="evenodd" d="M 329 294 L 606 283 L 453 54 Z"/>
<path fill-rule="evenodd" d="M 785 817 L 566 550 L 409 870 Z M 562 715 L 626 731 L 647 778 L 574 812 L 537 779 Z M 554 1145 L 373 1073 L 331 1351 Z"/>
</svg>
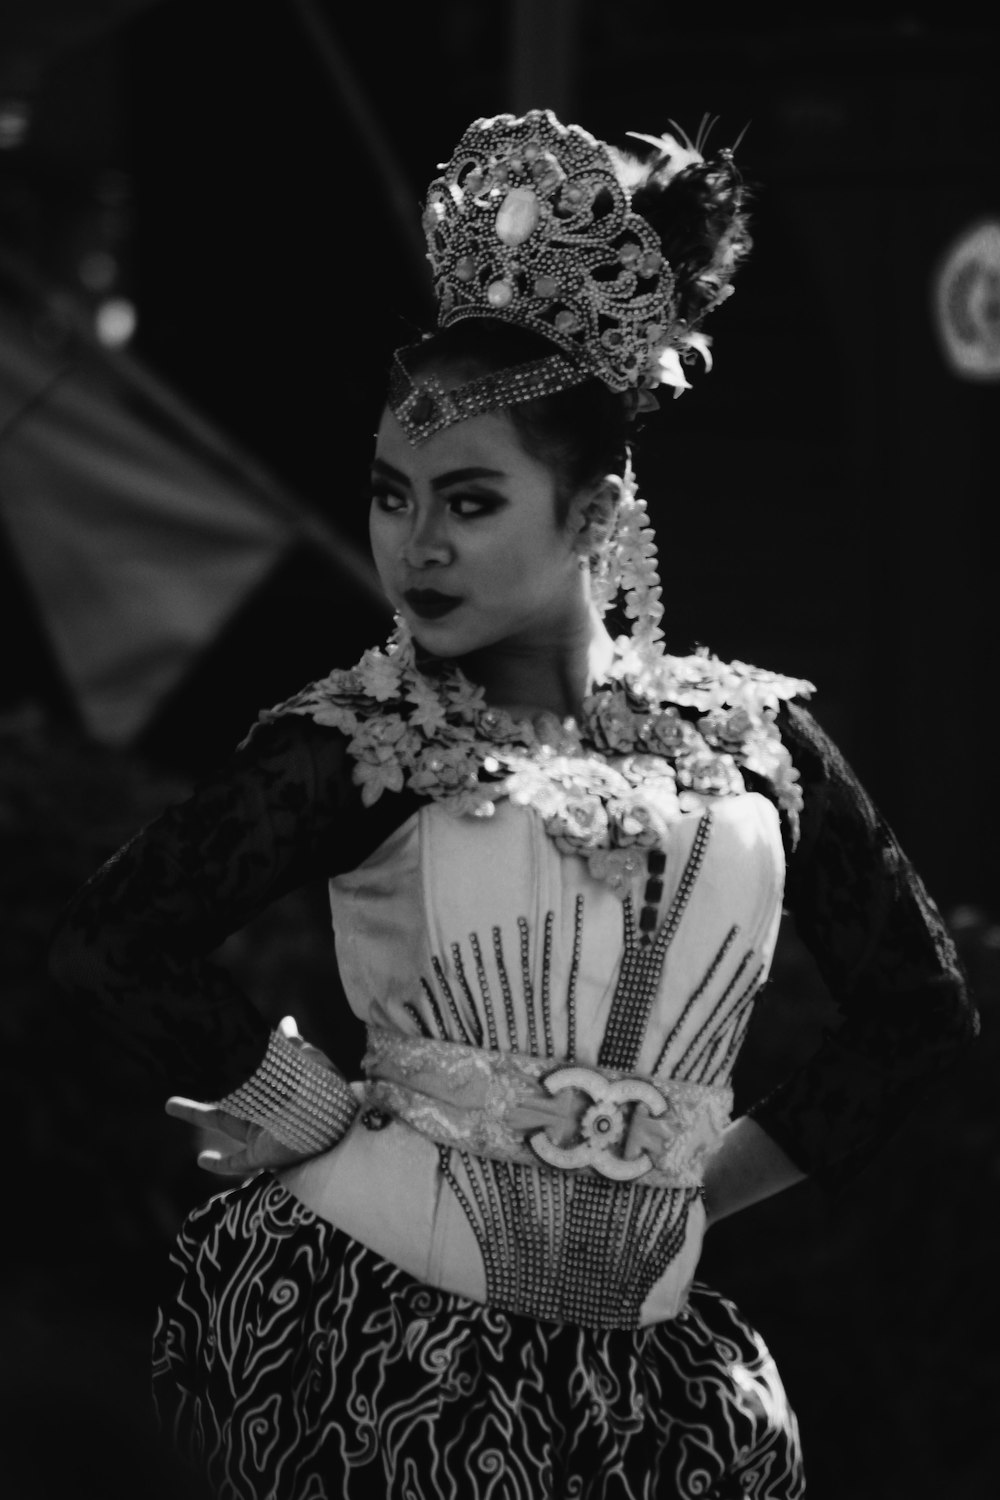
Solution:
<svg viewBox="0 0 1000 1500">
<path fill-rule="evenodd" d="M 225 1497 L 802 1494 L 705 1228 L 856 1170 L 973 1030 L 810 684 L 663 650 L 628 438 L 748 240 L 729 153 L 651 144 L 466 132 L 424 219 L 441 328 L 376 441 L 390 645 L 265 714 L 64 926 L 63 978 L 231 1138 L 205 1166 L 270 1168 L 192 1215 L 157 1330 Z M 363 1084 L 207 958 L 318 874 Z M 783 900 L 844 1024 L 730 1122 Z"/>
</svg>

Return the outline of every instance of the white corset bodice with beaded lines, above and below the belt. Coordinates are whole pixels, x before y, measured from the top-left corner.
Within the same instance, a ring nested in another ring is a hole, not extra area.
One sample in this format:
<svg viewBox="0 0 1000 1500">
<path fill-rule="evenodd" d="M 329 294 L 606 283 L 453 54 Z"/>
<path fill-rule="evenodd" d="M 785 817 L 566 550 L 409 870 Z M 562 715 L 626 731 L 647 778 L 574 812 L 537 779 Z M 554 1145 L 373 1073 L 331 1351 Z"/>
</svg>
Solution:
<svg viewBox="0 0 1000 1500">
<path fill-rule="evenodd" d="M 456 818 L 432 802 L 331 882 L 351 1006 L 387 1030 L 553 1068 L 724 1088 L 777 939 L 777 812 L 759 794 L 720 796 L 679 814 L 664 852 L 658 882 L 637 873 L 622 900 L 534 810 L 504 801 L 492 818 Z M 682 1306 L 703 1230 L 697 1190 L 588 1185 L 483 1162 L 400 1119 L 370 1124 L 361 1110 L 340 1144 L 285 1180 L 420 1280 L 610 1326 Z"/>
</svg>

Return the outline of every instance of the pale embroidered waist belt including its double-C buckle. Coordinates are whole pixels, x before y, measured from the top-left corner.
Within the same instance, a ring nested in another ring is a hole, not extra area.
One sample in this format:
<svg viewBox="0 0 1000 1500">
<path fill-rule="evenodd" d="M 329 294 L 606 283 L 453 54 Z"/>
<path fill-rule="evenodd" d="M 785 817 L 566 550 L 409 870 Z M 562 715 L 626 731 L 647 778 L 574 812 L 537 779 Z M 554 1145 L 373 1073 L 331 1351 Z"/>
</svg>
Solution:
<svg viewBox="0 0 1000 1500">
<path fill-rule="evenodd" d="M 651 1188 L 699 1186 L 730 1089 L 403 1036 L 369 1026 L 361 1124 L 444 1146 Z"/>
</svg>

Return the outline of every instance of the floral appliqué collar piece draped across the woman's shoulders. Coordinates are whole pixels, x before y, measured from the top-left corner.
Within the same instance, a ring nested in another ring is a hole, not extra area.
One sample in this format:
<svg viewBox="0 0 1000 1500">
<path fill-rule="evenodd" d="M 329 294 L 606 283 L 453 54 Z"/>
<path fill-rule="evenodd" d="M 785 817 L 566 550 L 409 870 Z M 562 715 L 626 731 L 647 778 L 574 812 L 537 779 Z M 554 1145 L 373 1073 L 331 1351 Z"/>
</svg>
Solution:
<svg viewBox="0 0 1000 1500">
<path fill-rule="evenodd" d="M 303 714 L 339 729 L 366 806 L 409 788 L 456 816 L 489 818 L 504 798 L 532 807 L 559 849 L 624 891 L 681 814 L 747 790 L 744 770 L 771 783 L 798 837 L 802 794 L 775 714 L 811 692 L 811 682 L 705 650 L 651 660 L 621 638 L 579 723 L 552 714 L 529 722 L 487 705 L 454 664 L 418 668 L 399 627 L 384 650 L 259 722 Z"/>
</svg>

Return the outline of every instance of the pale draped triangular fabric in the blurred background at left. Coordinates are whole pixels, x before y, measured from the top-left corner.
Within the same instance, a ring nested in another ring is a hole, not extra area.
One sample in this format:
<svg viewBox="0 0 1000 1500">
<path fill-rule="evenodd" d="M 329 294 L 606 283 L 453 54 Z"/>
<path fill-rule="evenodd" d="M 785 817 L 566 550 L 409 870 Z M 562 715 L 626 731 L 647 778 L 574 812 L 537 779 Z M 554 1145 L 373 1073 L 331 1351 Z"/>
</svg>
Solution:
<svg viewBox="0 0 1000 1500">
<path fill-rule="evenodd" d="M 0 302 L 0 528 L 93 738 L 132 744 L 297 548 L 331 596 L 373 597 L 357 549 L 181 430 L 127 362 L 39 327 Z"/>
</svg>

